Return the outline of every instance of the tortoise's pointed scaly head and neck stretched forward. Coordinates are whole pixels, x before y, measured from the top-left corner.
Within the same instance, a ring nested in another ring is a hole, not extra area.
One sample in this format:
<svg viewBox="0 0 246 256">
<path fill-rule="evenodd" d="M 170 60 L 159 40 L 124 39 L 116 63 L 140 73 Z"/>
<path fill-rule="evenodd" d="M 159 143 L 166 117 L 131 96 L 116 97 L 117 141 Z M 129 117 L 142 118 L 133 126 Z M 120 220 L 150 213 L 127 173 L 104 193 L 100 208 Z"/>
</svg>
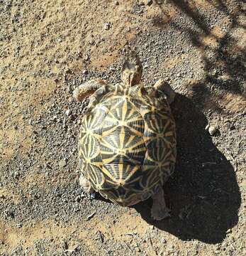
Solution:
<svg viewBox="0 0 246 256">
<path fill-rule="evenodd" d="M 121 68 L 121 80 L 127 86 L 138 85 L 142 76 L 142 64 L 135 51 L 131 51 Z"/>
</svg>

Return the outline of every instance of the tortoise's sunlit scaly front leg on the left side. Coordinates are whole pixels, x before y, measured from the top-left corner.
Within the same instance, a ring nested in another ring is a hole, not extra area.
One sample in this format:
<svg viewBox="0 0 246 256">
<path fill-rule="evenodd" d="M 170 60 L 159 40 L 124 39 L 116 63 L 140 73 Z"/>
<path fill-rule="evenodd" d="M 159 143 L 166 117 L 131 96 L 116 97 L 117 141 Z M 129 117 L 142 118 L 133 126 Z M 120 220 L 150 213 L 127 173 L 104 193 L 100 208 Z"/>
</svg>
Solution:
<svg viewBox="0 0 246 256">
<path fill-rule="evenodd" d="M 79 102 L 82 102 L 86 96 L 92 95 L 96 90 L 105 85 L 103 80 L 95 79 L 84 82 L 79 85 L 73 92 L 73 96 Z"/>
</svg>

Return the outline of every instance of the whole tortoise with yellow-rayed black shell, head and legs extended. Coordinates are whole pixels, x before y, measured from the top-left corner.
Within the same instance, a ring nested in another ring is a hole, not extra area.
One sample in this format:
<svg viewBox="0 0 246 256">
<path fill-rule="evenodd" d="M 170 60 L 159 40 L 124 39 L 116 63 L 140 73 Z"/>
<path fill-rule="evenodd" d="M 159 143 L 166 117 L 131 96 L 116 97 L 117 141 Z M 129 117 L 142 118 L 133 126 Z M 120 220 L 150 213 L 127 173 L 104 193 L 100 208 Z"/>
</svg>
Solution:
<svg viewBox="0 0 246 256">
<path fill-rule="evenodd" d="M 175 93 L 164 80 L 142 85 L 142 65 L 131 51 L 121 82 L 94 79 L 74 90 L 89 96 L 79 134 L 79 183 L 88 193 L 121 206 L 153 199 L 154 220 L 169 216 L 162 186 L 176 161 L 175 122 L 169 107 Z"/>
</svg>

